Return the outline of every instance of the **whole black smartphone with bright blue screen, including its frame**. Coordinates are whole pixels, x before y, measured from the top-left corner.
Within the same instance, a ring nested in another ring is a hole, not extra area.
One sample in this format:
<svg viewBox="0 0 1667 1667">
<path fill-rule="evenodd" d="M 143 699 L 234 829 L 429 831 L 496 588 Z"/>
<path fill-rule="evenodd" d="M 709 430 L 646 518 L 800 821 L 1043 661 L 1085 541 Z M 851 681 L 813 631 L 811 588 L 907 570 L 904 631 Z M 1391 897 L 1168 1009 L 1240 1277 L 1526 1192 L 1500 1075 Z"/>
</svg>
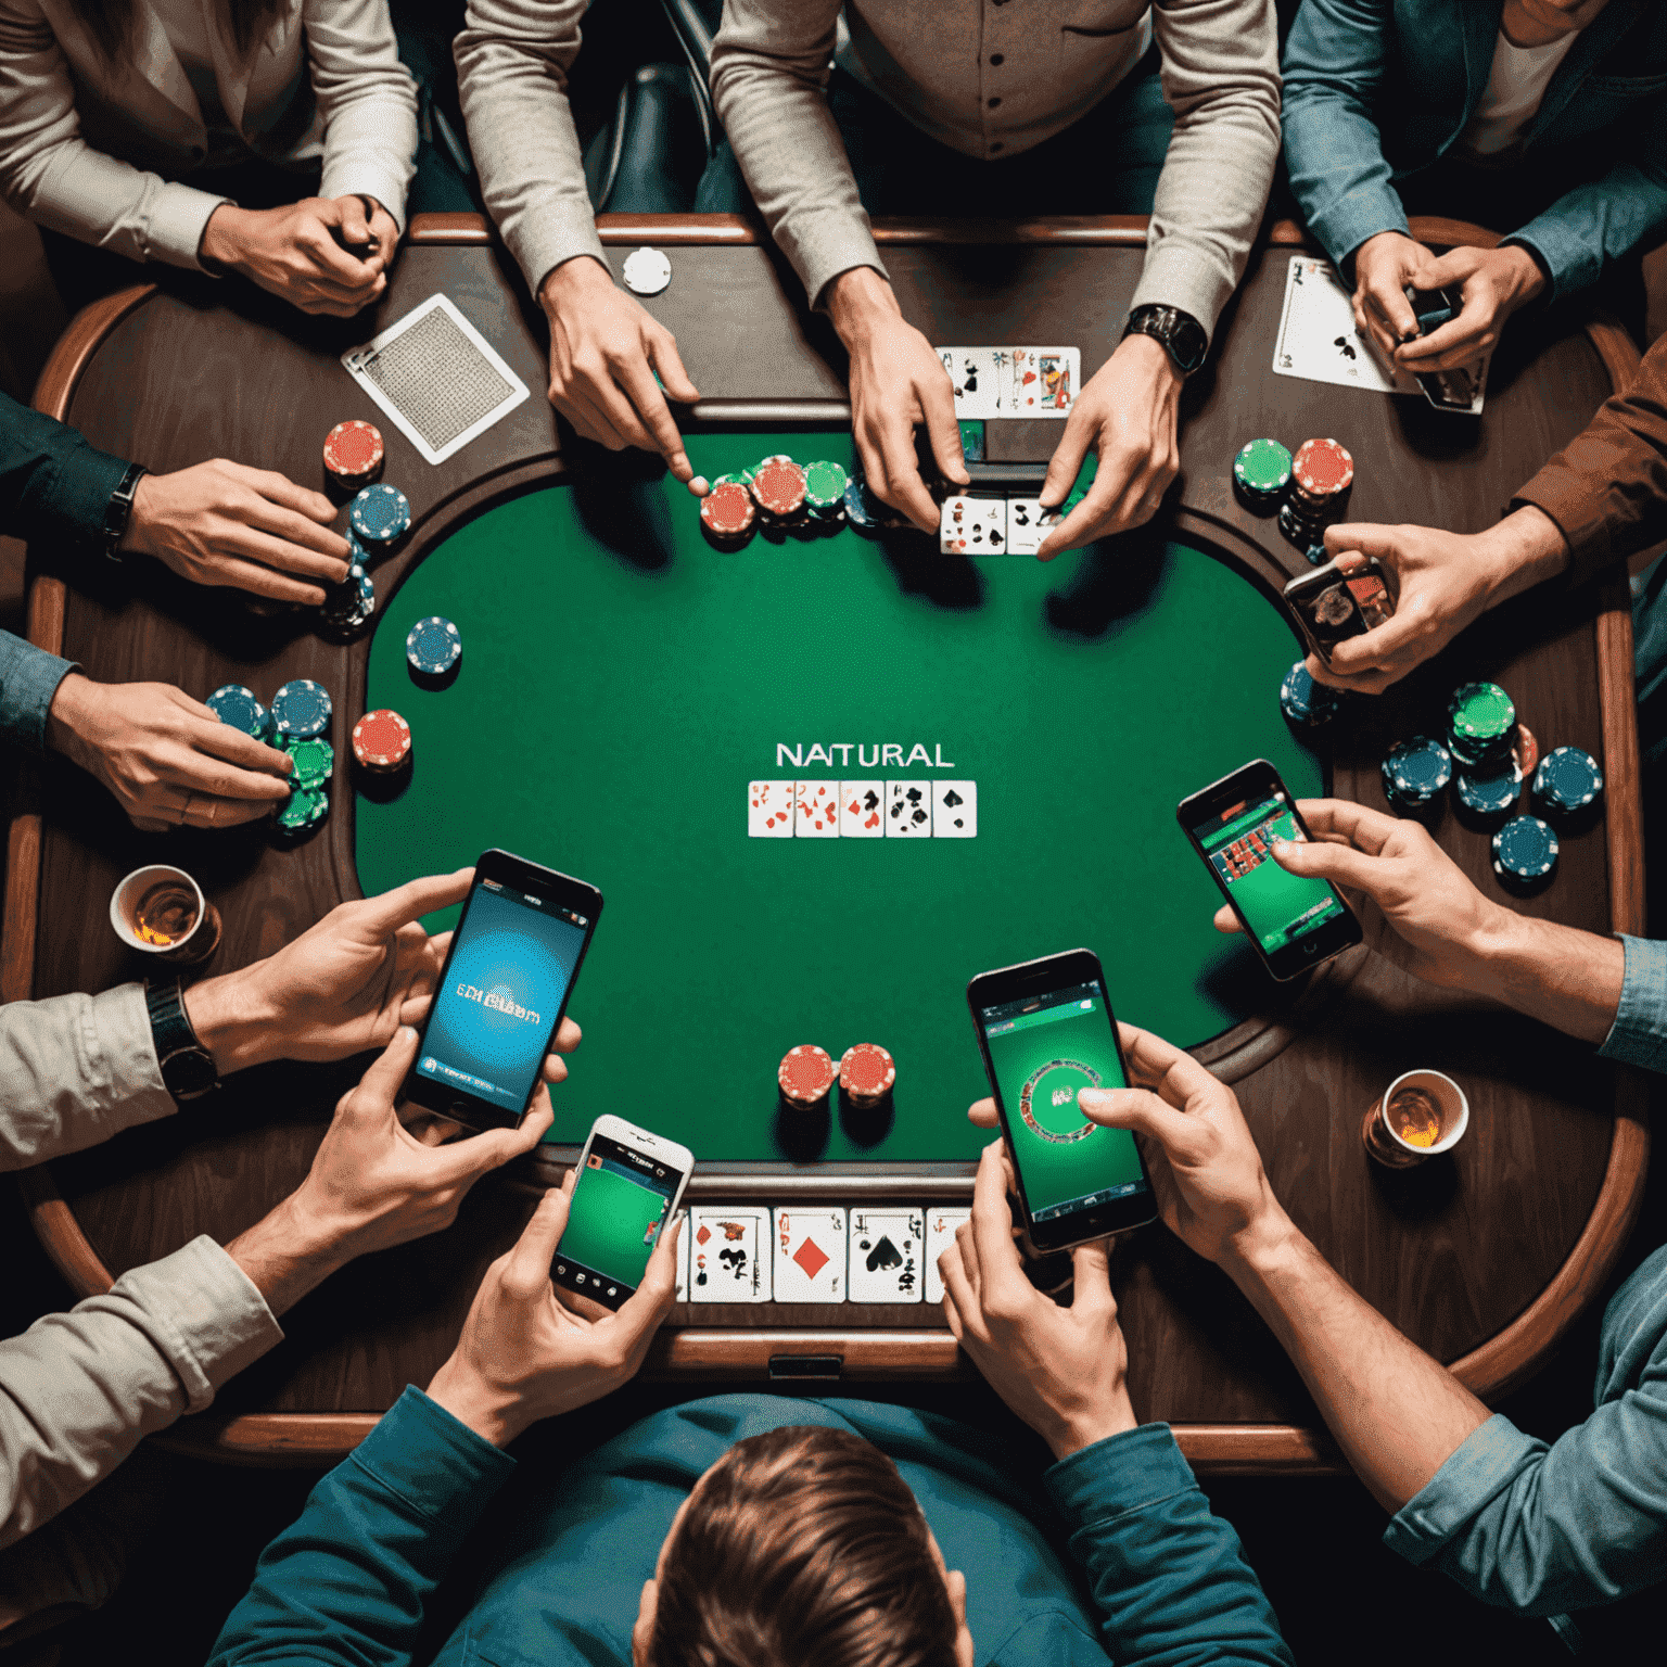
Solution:
<svg viewBox="0 0 1667 1667">
<path fill-rule="evenodd" d="M 468 1129 L 513 1129 L 600 915 L 593 885 L 482 852 L 402 1095 Z"/>
</svg>

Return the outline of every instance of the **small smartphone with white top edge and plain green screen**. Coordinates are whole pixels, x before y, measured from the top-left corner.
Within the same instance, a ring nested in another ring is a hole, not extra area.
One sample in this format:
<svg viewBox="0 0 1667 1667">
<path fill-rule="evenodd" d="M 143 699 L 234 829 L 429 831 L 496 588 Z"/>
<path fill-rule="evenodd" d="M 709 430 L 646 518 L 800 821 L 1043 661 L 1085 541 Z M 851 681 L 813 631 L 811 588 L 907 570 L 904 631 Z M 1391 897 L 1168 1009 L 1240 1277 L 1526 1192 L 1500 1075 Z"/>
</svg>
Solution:
<svg viewBox="0 0 1667 1667">
<path fill-rule="evenodd" d="M 550 1275 L 563 1290 L 617 1309 L 640 1284 L 672 1222 L 695 1155 L 603 1112 L 578 1154 L 578 1180 Z"/>
</svg>

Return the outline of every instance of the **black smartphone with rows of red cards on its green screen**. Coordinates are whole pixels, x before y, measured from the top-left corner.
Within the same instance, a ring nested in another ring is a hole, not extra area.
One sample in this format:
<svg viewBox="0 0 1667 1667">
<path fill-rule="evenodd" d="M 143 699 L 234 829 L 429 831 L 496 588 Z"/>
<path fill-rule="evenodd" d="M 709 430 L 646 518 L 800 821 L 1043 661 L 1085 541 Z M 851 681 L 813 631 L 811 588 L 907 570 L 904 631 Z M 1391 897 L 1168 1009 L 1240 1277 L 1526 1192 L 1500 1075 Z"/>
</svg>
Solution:
<svg viewBox="0 0 1667 1667">
<path fill-rule="evenodd" d="M 1360 922 L 1330 880 L 1302 879 L 1274 862 L 1275 839 L 1305 840 L 1309 830 L 1267 758 L 1184 798 L 1175 817 L 1275 979 L 1294 979 L 1360 942 Z"/>
</svg>

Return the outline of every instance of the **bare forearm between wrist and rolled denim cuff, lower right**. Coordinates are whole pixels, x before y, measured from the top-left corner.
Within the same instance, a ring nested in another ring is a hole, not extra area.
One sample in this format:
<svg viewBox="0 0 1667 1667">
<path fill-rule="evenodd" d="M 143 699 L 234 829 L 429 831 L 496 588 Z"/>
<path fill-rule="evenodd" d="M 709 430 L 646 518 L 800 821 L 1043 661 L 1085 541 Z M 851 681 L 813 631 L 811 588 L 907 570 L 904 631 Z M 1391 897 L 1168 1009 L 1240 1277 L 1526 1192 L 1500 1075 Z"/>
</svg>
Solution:
<svg viewBox="0 0 1667 1667">
<path fill-rule="evenodd" d="M 1487 1420 L 1487 1407 L 1357 1295 L 1284 1212 L 1242 1235 L 1222 1267 L 1387 1510 L 1399 1510 Z"/>
</svg>

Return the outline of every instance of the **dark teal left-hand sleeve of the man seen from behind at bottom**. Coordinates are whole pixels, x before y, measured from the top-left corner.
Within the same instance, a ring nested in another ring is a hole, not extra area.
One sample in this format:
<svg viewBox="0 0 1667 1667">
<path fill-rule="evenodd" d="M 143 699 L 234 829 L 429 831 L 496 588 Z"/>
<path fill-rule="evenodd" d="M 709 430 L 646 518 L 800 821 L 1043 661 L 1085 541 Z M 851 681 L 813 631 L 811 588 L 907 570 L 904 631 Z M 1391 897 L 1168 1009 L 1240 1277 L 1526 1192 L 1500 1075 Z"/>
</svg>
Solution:
<svg viewBox="0 0 1667 1667">
<path fill-rule="evenodd" d="M 210 1667 L 407 1667 L 430 1594 L 513 1469 L 407 1389 L 260 1554 Z"/>
</svg>

